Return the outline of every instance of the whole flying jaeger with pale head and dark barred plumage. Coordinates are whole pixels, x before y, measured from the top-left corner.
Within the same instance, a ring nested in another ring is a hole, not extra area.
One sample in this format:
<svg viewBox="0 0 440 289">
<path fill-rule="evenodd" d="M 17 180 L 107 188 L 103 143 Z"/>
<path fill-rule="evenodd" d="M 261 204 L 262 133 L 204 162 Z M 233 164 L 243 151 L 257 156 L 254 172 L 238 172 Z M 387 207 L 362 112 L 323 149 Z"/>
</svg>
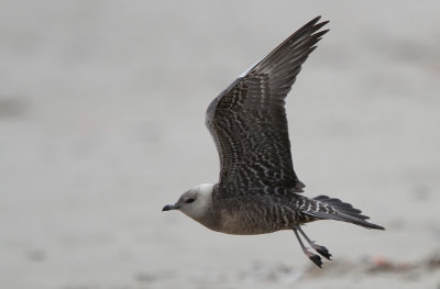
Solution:
<svg viewBox="0 0 440 289">
<path fill-rule="evenodd" d="M 265 234 L 293 230 L 302 252 L 319 267 L 331 255 L 300 225 L 337 220 L 366 229 L 369 216 L 350 203 L 327 196 L 307 198 L 294 171 L 285 98 L 317 47 L 328 23 L 311 20 L 232 82 L 209 105 L 208 126 L 220 157 L 220 179 L 186 191 L 163 211 L 179 210 L 213 231 Z M 300 235 L 319 255 L 307 248 Z"/>
</svg>

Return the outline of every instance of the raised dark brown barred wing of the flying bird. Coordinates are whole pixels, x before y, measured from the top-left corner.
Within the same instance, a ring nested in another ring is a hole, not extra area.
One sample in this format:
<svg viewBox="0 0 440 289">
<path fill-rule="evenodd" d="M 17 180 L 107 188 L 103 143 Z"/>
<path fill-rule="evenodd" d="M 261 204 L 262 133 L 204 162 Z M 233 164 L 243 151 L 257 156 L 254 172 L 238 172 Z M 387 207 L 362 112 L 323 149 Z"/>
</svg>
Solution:
<svg viewBox="0 0 440 289">
<path fill-rule="evenodd" d="M 304 25 L 255 64 L 208 108 L 206 124 L 220 157 L 221 193 L 305 187 L 294 171 L 285 98 L 328 22 Z"/>
</svg>

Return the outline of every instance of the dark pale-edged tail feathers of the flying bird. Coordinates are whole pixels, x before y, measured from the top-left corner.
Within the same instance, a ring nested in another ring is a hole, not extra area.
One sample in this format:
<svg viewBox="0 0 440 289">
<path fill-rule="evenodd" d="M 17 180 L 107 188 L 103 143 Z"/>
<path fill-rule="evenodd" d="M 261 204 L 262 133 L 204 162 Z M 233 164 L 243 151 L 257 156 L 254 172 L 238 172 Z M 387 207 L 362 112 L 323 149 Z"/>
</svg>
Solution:
<svg viewBox="0 0 440 289">
<path fill-rule="evenodd" d="M 317 212 L 305 212 L 309 215 L 314 215 L 319 219 L 331 219 L 342 222 L 349 222 L 356 225 L 361 225 L 366 229 L 385 230 L 385 227 L 381 225 L 376 225 L 365 221 L 370 219 L 370 216 L 361 214 L 362 211 L 354 208 L 350 203 L 342 202 L 339 199 L 330 198 L 328 196 L 318 196 L 314 198 L 314 200 L 331 205 L 337 211 L 337 213 L 330 212 L 328 210 L 317 211 Z"/>
</svg>

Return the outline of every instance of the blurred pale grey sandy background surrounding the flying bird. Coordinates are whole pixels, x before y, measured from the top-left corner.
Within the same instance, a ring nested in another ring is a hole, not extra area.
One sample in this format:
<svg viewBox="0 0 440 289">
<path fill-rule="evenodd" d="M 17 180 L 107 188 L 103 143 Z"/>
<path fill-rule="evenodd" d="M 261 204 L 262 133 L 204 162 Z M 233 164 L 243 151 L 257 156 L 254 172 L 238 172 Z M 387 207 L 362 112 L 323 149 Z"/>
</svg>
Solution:
<svg viewBox="0 0 440 289">
<path fill-rule="evenodd" d="M 386 232 L 231 236 L 162 213 L 216 182 L 209 102 L 314 16 L 287 101 L 307 196 Z M 0 288 L 440 288 L 438 1 L 0 1 Z"/>
</svg>

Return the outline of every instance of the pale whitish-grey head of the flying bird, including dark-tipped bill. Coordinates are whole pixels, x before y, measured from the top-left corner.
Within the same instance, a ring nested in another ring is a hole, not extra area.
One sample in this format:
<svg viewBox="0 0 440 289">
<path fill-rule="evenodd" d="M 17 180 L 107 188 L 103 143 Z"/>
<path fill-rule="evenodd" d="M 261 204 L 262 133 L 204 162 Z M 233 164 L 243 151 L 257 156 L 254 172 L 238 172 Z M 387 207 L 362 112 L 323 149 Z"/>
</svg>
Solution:
<svg viewBox="0 0 440 289">
<path fill-rule="evenodd" d="M 202 184 L 184 192 L 175 204 L 167 204 L 162 211 L 179 210 L 189 218 L 202 222 L 212 203 L 212 184 Z"/>
</svg>

